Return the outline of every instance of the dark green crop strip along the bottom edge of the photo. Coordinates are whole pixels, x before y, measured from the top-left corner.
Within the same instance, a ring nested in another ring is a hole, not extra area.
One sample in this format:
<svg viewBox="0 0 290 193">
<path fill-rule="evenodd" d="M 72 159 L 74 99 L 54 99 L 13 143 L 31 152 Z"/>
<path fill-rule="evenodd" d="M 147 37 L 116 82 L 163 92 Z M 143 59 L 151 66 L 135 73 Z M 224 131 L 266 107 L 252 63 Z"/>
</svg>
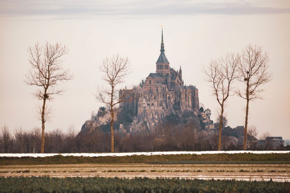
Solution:
<svg viewBox="0 0 290 193">
<path fill-rule="evenodd" d="M 289 192 L 290 183 L 273 181 L 119 179 L 119 178 L 0 178 L 0 192 Z"/>
</svg>

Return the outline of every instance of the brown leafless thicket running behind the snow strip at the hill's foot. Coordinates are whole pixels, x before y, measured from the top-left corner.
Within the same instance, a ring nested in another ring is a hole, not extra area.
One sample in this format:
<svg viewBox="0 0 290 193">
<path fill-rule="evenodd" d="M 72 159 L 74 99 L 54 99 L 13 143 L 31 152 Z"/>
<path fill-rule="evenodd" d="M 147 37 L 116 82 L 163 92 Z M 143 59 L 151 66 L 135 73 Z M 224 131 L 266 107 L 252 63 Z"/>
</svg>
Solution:
<svg viewBox="0 0 290 193">
<path fill-rule="evenodd" d="M 88 132 L 77 132 L 71 125 L 66 132 L 55 129 L 45 133 L 46 153 L 110 152 L 110 132 L 95 128 Z M 242 144 L 233 143 L 230 136 L 222 136 L 222 150 L 241 150 Z M 41 129 L 15 129 L 1 127 L 0 153 L 40 153 Z M 269 148 L 270 147 L 270 148 Z M 115 132 L 116 152 L 140 151 L 206 151 L 218 149 L 218 134 L 206 135 L 198 132 L 198 124 L 191 120 L 186 124 L 158 125 L 148 132 Z M 271 145 L 267 150 L 271 150 Z M 255 146 L 252 150 L 265 150 Z M 290 150 L 290 144 L 278 150 Z"/>
</svg>

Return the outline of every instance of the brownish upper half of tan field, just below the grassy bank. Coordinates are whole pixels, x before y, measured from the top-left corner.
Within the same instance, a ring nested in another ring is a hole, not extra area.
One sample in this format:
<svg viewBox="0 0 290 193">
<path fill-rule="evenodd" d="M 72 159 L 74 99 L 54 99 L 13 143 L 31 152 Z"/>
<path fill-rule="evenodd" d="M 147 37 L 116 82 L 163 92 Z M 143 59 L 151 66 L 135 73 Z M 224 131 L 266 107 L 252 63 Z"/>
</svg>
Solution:
<svg viewBox="0 0 290 193">
<path fill-rule="evenodd" d="M 284 172 L 289 164 L 50 164 L 0 165 L 0 172 Z"/>
</svg>

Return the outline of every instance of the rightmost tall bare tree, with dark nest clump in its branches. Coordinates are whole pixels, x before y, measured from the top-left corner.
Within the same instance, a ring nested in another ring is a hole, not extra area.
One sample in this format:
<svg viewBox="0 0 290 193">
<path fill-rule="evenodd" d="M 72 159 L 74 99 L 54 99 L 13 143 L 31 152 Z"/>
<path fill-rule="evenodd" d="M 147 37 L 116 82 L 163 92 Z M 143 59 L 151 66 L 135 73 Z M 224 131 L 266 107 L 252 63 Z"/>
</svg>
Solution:
<svg viewBox="0 0 290 193">
<path fill-rule="evenodd" d="M 262 52 L 262 47 L 249 44 L 242 50 L 242 60 L 239 63 L 240 81 L 244 83 L 243 90 L 236 90 L 239 97 L 247 100 L 245 117 L 245 136 L 243 150 L 247 148 L 247 129 L 249 115 L 249 101 L 263 99 L 261 86 L 271 81 L 272 72 L 268 70 L 269 54 Z"/>
</svg>

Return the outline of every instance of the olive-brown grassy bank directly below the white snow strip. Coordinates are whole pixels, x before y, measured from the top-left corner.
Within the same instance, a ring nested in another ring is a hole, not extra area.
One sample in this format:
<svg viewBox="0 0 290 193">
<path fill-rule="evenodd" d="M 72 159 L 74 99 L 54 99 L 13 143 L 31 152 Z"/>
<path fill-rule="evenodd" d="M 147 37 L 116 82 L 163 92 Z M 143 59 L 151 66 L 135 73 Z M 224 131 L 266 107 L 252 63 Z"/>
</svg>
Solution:
<svg viewBox="0 0 290 193">
<path fill-rule="evenodd" d="M 166 161 L 169 161 L 166 163 Z M 178 155 L 131 155 L 131 156 L 48 156 L 48 157 L 0 157 L 0 165 L 30 164 L 78 164 L 78 163 L 290 163 L 290 153 L 272 154 L 178 154 Z"/>
</svg>

